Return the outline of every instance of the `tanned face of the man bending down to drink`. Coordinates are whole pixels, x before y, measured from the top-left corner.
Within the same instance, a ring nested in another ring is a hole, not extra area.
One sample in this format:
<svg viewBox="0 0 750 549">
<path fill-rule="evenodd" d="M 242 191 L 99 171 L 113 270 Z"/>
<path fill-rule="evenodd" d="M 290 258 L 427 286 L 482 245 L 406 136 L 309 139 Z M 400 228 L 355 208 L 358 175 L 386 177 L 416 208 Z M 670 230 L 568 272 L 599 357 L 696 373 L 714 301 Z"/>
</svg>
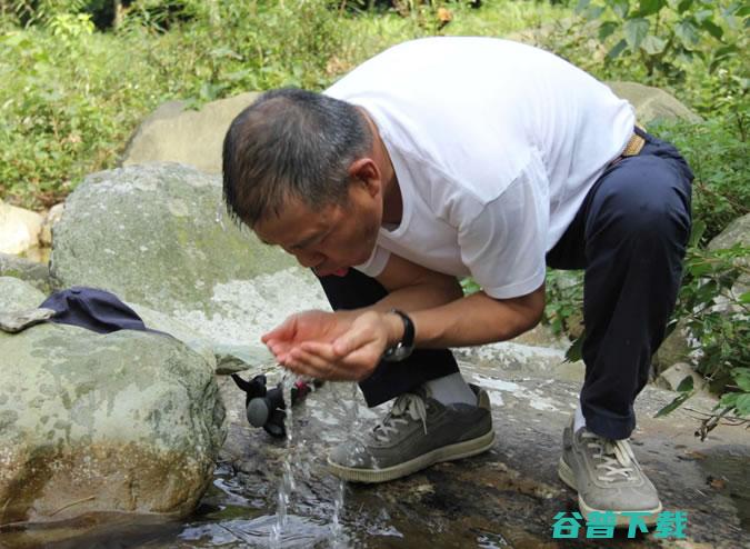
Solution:
<svg viewBox="0 0 750 549">
<path fill-rule="evenodd" d="M 370 258 L 381 214 L 380 194 L 372 196 L 361 181 L 353 181 L 344 206 L 312 210 L 290 198 L 279 217 L 259 221 L 253 230 L 263 242 L 280 246 L 319 277 L 342 276 L 347 268 Z"/>
</svg>

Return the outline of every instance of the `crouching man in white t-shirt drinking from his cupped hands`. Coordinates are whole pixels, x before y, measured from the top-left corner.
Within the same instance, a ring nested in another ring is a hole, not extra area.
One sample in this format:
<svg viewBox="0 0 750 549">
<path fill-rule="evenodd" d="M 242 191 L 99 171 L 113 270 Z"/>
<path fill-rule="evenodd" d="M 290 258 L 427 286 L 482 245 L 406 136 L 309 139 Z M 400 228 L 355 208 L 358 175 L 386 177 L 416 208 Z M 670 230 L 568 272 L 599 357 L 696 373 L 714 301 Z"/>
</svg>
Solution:
<svg viewBox="0 0 750 549">
<path fill-rule="evenodd" d="M 586 269 L 586 380 L 559 473 L 584 515 L 656 520 L 627 439 L 676 300 L 692 174 L 627 101 L 528 46 L 424 39 L 323 94 L 266 93 L 223 154 L 230 212 L 311 268 L 336 311 L 294 315 L 266 345 L 299 375 L 359 381 L 369 406 L 396 399 L 333 450 L 336 475 L 379 482 L 489 449 L 487 393 L 447 348 L 531 329 L 546 266 Z M 482 291 L 463 297 L 466 276 Z"/>
</svg>

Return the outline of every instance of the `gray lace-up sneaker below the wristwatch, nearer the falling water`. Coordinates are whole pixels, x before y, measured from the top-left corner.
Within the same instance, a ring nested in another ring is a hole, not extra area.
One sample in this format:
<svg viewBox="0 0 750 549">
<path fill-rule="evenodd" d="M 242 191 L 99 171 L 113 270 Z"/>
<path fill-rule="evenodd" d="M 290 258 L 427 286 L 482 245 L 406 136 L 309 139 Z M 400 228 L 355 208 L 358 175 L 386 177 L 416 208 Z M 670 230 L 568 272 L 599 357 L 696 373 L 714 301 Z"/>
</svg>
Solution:
<svg viewBox="0 0 750 549">
<path fill-rule="evenodd" d="M 444 406 L 424 388 L 396 399 L 363 441 L 346 442 L 328 458 L 330 471 L 354 482 L 386 482 L 439 461 L 476 456 L 492 448 L 490 399 L 477 386 L 477 406 Z"/>
</svg>

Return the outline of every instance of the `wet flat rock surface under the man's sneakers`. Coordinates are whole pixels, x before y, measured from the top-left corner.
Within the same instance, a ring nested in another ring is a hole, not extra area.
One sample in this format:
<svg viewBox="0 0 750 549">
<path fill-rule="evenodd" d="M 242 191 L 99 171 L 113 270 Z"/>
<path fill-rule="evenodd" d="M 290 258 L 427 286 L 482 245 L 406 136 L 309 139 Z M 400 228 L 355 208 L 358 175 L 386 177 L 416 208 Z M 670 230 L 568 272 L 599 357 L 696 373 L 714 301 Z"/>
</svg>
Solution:
<svg viewBox="0 0 750 549">
<path fill-rule="evenodd" d="M 509 373 L 490 366 L 462 365 L 466 377 L 483 386 L 493 402 L 498 435 L 482 456 L 433 466 L 386 485 L 346 485 L 341 532 L 333 539 L 339 481 L 324 457 L 333 445 L 364 429 L 386 410 L 367 409 L 351 385 L 328 383 L 296 407 L 296 490 L 281 547 L 539 548 L 539 547 L 748 547 L 750 437 L 720 426 L 701 442 L 693 436 L 694 412 L 679 409 L 666 419 L 656 412 L 674 393 L 648 387 L 637 401 L 639 427 L 632 446 L 659 489 L 664 510 L 688 512 L 688 539 L 652 533 L 613 540 L 552 539 L 553 517 L 577 510 L 576 495 L 557 478 L 561 432 L 574 409 L 579 382 Z M 277 370 L 269 371 L 272 378 Z M 269 547 L 276 523 L 278 487 L 288 449 L 283 439 L 251 428 L 243 393 L 221 378 L 229 435 L 213 485 L 197 511 L 182 522 L 97 529 L 78 525 L 60 547 L 117 539 L 118 547 Z M 352 397 L 356 396 L 356 400 Z M 357 402 L 352 419 L 351 402 Z M 690 409 L 709 410 L 700 397 Z M 47 531 L 0 535 L 0 546 L 33 547 Z M 67 545 L 66 545 L 67 543 Z M 338 543 L 338 545 L 337 545 Z M 58 547 L 58 546 L 56 546 Z"/>
</svg>

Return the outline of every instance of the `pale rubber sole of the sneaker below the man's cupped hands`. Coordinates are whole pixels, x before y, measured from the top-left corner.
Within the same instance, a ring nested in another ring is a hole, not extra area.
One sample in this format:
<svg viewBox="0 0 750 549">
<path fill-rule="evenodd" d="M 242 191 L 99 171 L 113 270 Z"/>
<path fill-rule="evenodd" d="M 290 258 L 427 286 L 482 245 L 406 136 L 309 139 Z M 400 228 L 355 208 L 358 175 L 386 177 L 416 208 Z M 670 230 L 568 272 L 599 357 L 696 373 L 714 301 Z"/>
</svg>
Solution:
<svg viewBox="0 0 750 549">
<path fill-rule="evenodd" d="M 351 467 L 343 467 L 339 463 L 328 459 L 328 469 L 342 480 L 350 482 L 387 482 L 394 480 L 412 472 L 417 472 L 431 465 L 441 461 L 452 461 L 454 459 L 469 458 L 478 453 L 486 452 L 494 445 L 494 429 L 477 437 L 474 439 L 464 440 L 442 448 L 436 448 L 432 451 L 418 456 L 409 461 L 399 463 L 383 469 L 356 469 Z"/>
</svg>

